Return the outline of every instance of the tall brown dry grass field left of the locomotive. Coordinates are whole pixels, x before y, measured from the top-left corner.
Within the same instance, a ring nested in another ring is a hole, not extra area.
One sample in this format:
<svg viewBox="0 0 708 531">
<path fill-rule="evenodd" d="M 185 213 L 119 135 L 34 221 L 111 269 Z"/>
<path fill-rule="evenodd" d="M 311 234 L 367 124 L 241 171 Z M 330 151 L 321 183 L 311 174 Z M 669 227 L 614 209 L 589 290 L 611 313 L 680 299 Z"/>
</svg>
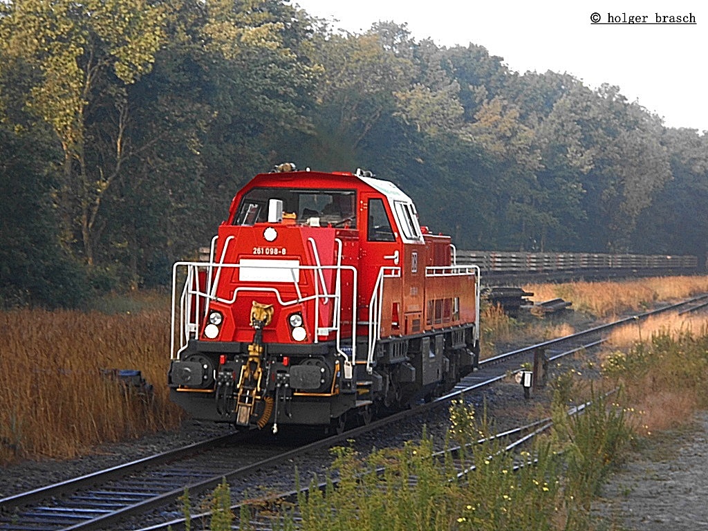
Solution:
<svg viewBox="0 0 708 531">
<path fill-rule="evenodd" d="M 0 314 L 0 464 L 74 457 L 101 442 L 176 428 L 169 402 L 169 310 L 106 315 L 21 309 Z M 102 375 L 137 369 L 151 400 Z"/>
</svg>

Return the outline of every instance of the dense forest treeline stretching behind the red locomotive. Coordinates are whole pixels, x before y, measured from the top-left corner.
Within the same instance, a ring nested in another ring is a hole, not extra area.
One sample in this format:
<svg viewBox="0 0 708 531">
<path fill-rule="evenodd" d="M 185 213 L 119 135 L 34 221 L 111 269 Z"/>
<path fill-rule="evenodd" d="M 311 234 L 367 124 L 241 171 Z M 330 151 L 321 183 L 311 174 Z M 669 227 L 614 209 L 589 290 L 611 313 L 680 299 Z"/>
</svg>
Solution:
<svg viewBox="0 0 708 531">
<path fill-rule="evenodd" d="M 396 182 L 458 249 L 706 253 L 707 135 L 616 86 L 286 0 L 0 2 L 2 304 L 166 285 L 284 161 Z"/>
</svg>

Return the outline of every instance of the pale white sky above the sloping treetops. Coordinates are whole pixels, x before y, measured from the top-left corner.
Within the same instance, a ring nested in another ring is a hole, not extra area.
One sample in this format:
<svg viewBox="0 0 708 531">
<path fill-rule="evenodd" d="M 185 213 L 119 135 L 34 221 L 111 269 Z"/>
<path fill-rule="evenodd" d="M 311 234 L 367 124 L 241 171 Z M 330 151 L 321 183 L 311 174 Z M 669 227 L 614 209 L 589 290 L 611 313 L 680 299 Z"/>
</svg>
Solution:
<svg viewBox="0 0 708 531">
<path fill-rule="evenodd" d="M 667 127 L 708 131 L 704 0 L 293 0 L 334 28 L 407 23 L 416 40 L 484 46 L 512 70 L 568 73 L 619 86 Z M 611 16 L 611 17 L 610 17 Z M 656 23 L 657 16 L 660 22 Z M 683 19 L 688 23 L 668 23 Z M 632 18 L 634 17 L 634 18 Z M 598 21 L 598 23 L 593 23 Z M 632 22 L 632 23 L 631 23 Z M 641 22 L 641 23 L 640 23 Z"/>
</svg>

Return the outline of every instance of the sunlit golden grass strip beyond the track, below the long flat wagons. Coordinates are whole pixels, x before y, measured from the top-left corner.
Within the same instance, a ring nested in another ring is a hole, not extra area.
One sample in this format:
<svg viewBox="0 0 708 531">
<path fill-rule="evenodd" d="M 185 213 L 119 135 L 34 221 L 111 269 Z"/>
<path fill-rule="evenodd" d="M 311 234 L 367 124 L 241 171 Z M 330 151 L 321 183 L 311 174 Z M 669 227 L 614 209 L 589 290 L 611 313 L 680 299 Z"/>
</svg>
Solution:
<svg viewBox="0 0 708 531">
<path fill-rule="evenodd" d="M 683 276 L 644 278 L 622 282 L 566 282 L 563 284 L 528 284 L 534 302 L 560 297 L 573 308 L 598 317 L 612 317 L 640 312 L 657 301 L 670 301 L 708 292 L 708 277 Z"/>
</svg>

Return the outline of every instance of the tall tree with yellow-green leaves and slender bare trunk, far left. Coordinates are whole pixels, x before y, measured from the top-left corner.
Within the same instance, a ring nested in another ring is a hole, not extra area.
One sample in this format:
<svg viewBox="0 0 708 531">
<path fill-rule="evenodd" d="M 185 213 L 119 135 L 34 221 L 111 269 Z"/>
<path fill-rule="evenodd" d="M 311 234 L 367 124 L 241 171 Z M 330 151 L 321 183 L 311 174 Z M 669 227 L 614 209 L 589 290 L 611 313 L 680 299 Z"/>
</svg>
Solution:
<svg viewBox="0 0 708 531">
<path fill-rule="evenodd" d="M 64 152 L 59 202 L 64 222 L 78 219 L 83 256 L 93 264 L 98 211 L 132 156 L 125 87 L 149 72 L 162 41 L 164 13 L 145 0 L 15 0 L 2 4 L 1 53 L 40 72 L 26 96 L 55 131 Z M 89 164 L 89 115 L 97 101 L 115 123 L 110 152 Z"/>
</svg>

